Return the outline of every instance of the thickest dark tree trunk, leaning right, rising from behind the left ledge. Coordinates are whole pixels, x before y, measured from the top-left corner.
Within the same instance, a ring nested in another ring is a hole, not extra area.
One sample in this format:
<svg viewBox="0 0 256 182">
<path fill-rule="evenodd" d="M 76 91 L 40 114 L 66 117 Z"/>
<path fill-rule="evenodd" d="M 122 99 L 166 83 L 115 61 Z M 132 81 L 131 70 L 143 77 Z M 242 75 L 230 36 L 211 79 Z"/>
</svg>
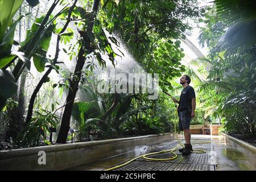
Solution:
<svg viewBox="0 0 256 182">
<path fill-rule="evenodd" d="M 88 23 L 86 26 L 85 32 L 80 32 L 82 37 L 82 46 L 79 50 L 79 55 L 76 63 L 76 68 L 74 72 L 74 77 L 72 78 L 70 82 L 70 87 L 68 90 L 68 96 L 67 96 L 67 105 L 65 106 L 65 110 L 63 113 L 63 117 L 61 119 L 61 126 L 60 131 L 56 140 L 56 143 L 66 143 L 67 137 L 68 137 L 68 131 L 69 131 L 69 125 L 70 125 L 70 119 L 71 119 L 71 113 L 73 109 L 73 103 L 76 97 L 76 92 L 78 90 L 79 82 L 81 79 L 81 71 L 85 64 L 85 56 L 84 54 L 89 54 L 93 52 L 93 49 L 91 47 L 91 42 L 89 39 L 89 35 L 92 34 L 93 25 L 94 25 L 94 19 L 97 15 L 97 10 L 99 6 L 100 0 L 94 0 L 93 2 L 93 8 L 90 18 L 88 19 Z M 86 42 L 86 43 L 85 43 Z M 86 51 L 86 52 L 85 52 Z"/>
</svg>

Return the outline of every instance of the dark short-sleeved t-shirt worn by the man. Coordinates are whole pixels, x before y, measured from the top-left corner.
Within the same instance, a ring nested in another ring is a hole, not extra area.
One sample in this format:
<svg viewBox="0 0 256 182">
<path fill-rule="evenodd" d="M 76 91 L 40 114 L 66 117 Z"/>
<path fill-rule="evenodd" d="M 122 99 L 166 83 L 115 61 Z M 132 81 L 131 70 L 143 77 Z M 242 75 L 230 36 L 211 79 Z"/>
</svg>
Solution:
<svg viewBox="0 0 256 182">
<path fill-rule="evenodd" d="M 192 98 L 196 98 L 195 90 L 192 86 L 184 88 L 180 94 L 180 105 L 179 110 L 190 110 L 192 109 Z"/>
</svg>

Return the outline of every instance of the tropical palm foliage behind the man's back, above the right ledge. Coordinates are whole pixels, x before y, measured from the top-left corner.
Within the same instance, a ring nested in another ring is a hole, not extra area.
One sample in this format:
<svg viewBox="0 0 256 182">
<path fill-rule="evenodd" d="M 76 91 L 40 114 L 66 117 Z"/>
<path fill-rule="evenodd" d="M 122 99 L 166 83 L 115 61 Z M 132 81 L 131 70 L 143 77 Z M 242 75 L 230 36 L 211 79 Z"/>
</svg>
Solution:
<svg viewBox="0 0 256 182">
<path fill-rule="evenodd" d="M 216 1 L 201 28 L 200 43 L 210 47 L 208 58 L 192 63 L 209 69 L 200 90 L 216 90 L 216 118 L 226 131 L 255 134 L 255 1 Z"/>
</svg>

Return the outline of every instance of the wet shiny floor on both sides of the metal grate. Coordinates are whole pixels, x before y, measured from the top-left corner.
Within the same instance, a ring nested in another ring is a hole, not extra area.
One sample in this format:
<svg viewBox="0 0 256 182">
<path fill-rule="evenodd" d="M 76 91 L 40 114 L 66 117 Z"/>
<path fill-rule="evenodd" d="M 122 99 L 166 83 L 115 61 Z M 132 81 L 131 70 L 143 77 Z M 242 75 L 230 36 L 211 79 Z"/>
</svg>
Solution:
<svg viewBox="0 0 256 182">
<path fill-rule="evenodd" d="M 229 140 L 224 140 L 218 136 L 210 135 L 192 135 L 192 140 L 209 140 L 211 141 L 211 150 L 208 151 L 210 157 L 209 164 L 216 164 L 217 171 L 234 171 L 234 170 L 256 170 L 256 156 L 253 152 L 245 150 L 241 146 Z M 183 140 L 181 140 L 183 141 Z M 137 156 L 148 154 L 154 151 L 160 151 L 161 148 L 166 150 L 174 148 L 179 142 L 177 140 L 170 140 L 167 142 L 155 144 L 153 146 L 137 146 L 132 150 L 111 156 L 109 158 L 101 159 L 93 163 L 84 164 L 73 167 L 68 170 L 83 170 L 83 171 L 101 171 L 116 164 L 123 163 L 127 160 L 133 159 Z"/>
</svg>

